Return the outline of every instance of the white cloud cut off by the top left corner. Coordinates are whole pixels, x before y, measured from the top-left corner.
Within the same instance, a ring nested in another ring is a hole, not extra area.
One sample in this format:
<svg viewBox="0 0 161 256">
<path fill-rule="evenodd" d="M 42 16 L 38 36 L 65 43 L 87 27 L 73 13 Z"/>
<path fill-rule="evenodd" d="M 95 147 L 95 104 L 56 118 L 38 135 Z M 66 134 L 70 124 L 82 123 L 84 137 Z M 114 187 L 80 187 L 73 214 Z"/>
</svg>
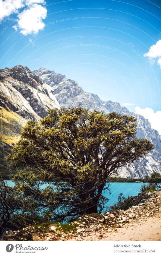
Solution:
<svg viewBox="0 0 161 256">
<path fill-rule="evenodd" d="M 0 0 L 0 21 L 24 7 L 24 0 Z"/>
</svg>

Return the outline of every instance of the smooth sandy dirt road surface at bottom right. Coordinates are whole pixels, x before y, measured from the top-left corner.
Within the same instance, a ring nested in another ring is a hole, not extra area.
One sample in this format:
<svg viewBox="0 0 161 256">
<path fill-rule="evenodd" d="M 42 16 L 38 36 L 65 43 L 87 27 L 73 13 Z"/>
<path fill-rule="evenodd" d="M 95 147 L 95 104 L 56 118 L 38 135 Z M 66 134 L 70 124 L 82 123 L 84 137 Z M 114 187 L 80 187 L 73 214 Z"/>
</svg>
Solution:
<svg viewBox="0 0 161 256">
<path fill-rule="evenodd" d="M 161 215 L 129 223 L 99 241 L 161 241 Z"/>
</svg>

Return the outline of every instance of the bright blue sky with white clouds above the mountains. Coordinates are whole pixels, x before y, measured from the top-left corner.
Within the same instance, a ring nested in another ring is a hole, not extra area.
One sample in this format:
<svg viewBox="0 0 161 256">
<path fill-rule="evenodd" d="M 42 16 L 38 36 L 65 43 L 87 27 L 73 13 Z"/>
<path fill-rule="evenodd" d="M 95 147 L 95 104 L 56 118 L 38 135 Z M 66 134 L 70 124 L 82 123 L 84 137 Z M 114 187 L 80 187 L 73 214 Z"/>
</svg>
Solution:
<svg viewBox="0 0 161 256">
<path fill-rule="evenodd" d="M 65 74 L 159 130 L 160 1 L 0 0 L 0 6 L 0 68 Z"/>
</svg>

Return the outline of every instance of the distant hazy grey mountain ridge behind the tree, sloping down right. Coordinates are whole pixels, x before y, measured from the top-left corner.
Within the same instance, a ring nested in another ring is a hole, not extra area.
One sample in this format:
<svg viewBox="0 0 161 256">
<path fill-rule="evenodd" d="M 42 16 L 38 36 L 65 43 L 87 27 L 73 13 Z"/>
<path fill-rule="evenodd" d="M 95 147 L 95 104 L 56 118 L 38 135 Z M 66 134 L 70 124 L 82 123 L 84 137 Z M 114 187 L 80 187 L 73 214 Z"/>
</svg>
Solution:
<svg viewBox="0 0 161 256">
<path fill-rule="evenodd" d="M 55 98 L 62 107 L 82 104 L 90 110 L 97 109 L 105 113 L 115 111 L 120 114 L 135 116 L 137 118 L 137 136 L 152 141 L 155 145 L 155 150 L 149 153 L 147 157 L 137 161 L 134 166 L 123 167 L 120 170 L 120 176 L 144 178 L 154 171 L 161 173 L 161 140 L 158 131 L 152 129 L 149 121 L 142 115 L 129 112 L 127 108 L 122 107 L 119 103 L 100 100 L 96 94 L 85 92 L 78 86 L 77 82 L 67 79 L 62 74 L 56 74 L 54 71 L 49 71 L 46 68 L 40 68 L 34 71 L 34 74 L 52 86 Z"/>
</svg>

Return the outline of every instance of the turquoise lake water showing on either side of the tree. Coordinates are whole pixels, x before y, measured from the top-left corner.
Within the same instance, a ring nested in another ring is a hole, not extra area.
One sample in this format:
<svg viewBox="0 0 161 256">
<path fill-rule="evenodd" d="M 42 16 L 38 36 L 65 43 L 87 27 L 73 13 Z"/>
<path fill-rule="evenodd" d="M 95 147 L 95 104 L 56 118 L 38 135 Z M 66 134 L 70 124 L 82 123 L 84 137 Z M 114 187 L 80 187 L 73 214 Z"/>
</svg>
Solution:
<svg viewBox="0 0 161 256">
<path fill-rule="evenodd" d="M 14 186 L 14 182 L 11 180 L 6 181 L 8 186 Z M 111 205 L 115 204 L 118 199 L 118 195 L 123 193 L 125 198 L 129 196 L 136 196 L 139 193 L 139 189 L 143 183 L 132 183 L 132 182 L 110 182 L 109 191 L 103 192 L 103 195 L 109 198 L 107 205 L 110 207 Z"/>
</svg>

